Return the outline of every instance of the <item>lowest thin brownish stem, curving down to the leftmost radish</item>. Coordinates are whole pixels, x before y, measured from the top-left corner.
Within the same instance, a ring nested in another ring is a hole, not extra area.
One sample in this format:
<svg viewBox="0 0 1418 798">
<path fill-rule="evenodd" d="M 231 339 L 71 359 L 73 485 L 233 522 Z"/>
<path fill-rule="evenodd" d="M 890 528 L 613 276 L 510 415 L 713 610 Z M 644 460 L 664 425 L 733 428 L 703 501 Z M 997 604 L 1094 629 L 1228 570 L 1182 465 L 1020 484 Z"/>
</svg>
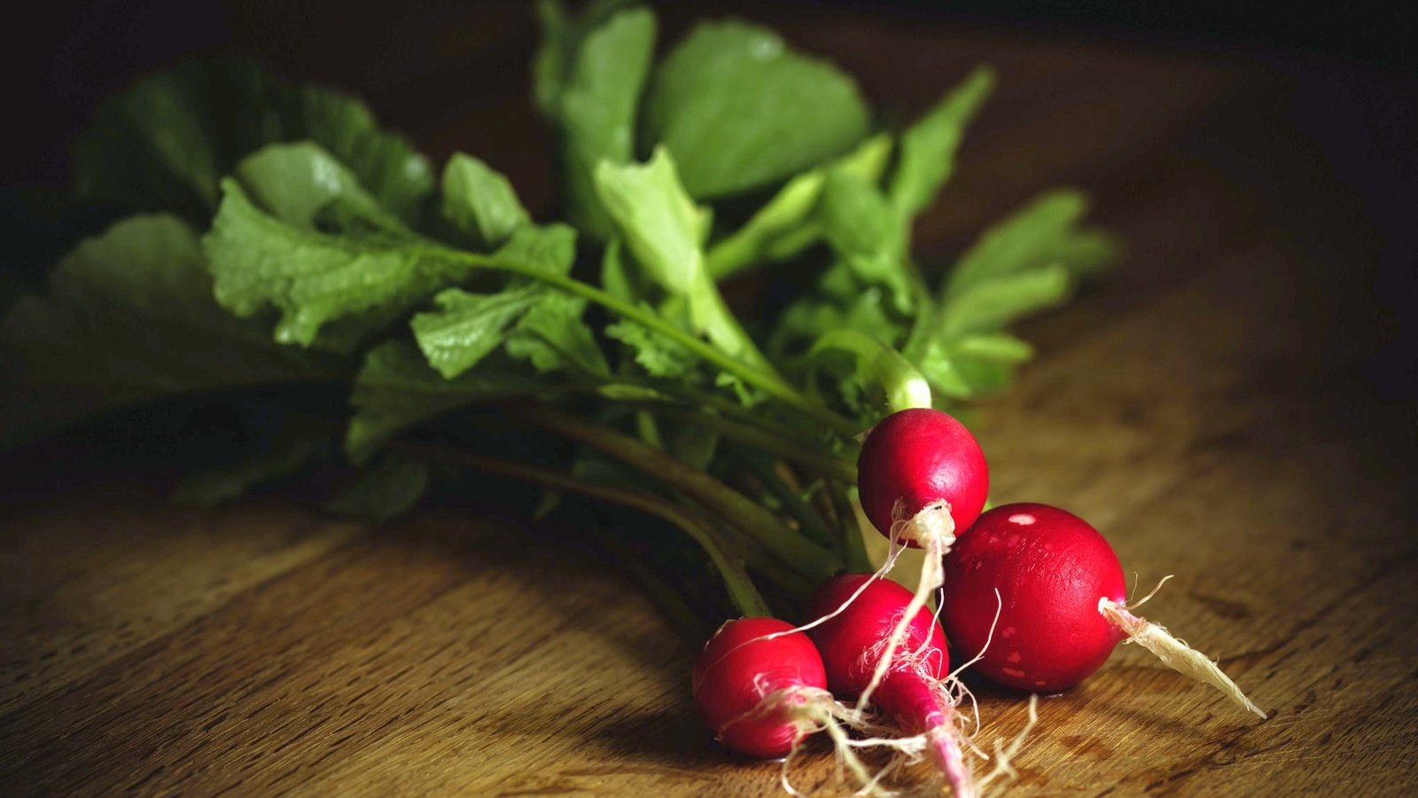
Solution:
<svg viewBox="0 0 1418 798">
<path fill-rule="evenodd" d="M 657 515 L 683 530 L 685 534 L 693 538 L 695 542 L 705 550 L 705 554 L 709 555 L 709 559 L 712 559 L 715 567 L 719 569 L 719 575 L 723 578 L 723 584 L 729 589 L 729 598 L 733 601 L 735 606 L 739 608 L 739 612 L 750 616 L 773 615 L 773 611 L 769 609 L 769 602 L 763 601 L 759 589 L 753 586 L 753 579 L 750 579 L 749 574 L 743 569 L 743 561 L 730 557 L 726 552 L 725 541 L 709 527 L 709 524 L 703 523 L 700 518 L 672 501 L 666 501 L 642 490 L 600 484 L 562 474 L 550 469 L 513 463 L 498 457 L 485 457 L 482 454 L 472 454 L 471 452 L 423 446 L 417 443 L 398 443 L 397 446 L 410 454 L 452 461 L 459 466 L 478 469 L 481 471 L 491 471 L 495 474 L 537 483 L 554 490 L 580 493 L 583 496 L 590 496 L 591 498 L 600 498 L 603 501 L 621 504 L 624 507 L 631 507 L 634 510 Z"/>
</svg>

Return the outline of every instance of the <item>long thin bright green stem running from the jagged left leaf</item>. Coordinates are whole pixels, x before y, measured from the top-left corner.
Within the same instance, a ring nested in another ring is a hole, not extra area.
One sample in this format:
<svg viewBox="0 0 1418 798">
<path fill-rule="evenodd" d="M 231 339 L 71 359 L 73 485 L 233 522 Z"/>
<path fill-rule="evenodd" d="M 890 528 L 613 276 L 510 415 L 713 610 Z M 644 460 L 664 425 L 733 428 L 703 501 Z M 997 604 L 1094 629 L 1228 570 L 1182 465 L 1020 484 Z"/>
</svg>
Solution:
<svg viewBox="0 0 1418 798">
<path fill-rule="evenodd" d="M 539 268 L 529 267 L 526 264 L 498 260 L 496 256 L 481 256 L 475 253 L 465 253 L 451 248 L 431 250 L 430 254 L 434 257 L 461 260 L 464 263 L 478 266 L 482 268 L 493 268 L 498 271 L 506 271 L 509 274 L 519 274 L 522 277 L 527 277 L 532 280 L 537 280 L 540 283 L 546 283 L 549 285 L 554 285 L 557 288 L 562 288 L 563 291 L 576 294 L 577 297 L 584 297 L 586 300 L 590 300 L 623 318 L 627 318 L 630 321 L 634 321 L 635 324 L 654 329 L 655 332 L 666 338 L 672 338 L 675 342 L 685 346 L 695 355 L 703 358 L 705 361 L 719 366 L 720 369 L 729 373 L 733 373 L 739 379 L 744 381 L 749 385 L 753 385 L 754 388 L 759 388 L 760 390 L 783 402 L 784 405 L 801 410 L 803 413 L 811 416 L 813 419 L 821 422 L 822 425 L 827 425 L 832 432 L 844 437 L 852 437 L 858 432 L 861 432 L 856 423 L 824 408 L 821 403 L 813 400 L 805 393 L 788 385 L 781 376 L 776 373 L 766 373 L 760 369 L 752 368 L 747 364 L 739 361 L 737 358 L 720 352 L 713 345 L 705 342 L 699 337 L 685 332 L 678 327 L 666 322 L 658 314 L 641 308 L 632 302 L 627 302 L 615 297 L 614 294 L 603 291 L 594 285 L 590 285 L 573 277 L 567 277 L 564 274 L 554 274 L 550 271 L 542 271 Z"/>
</svg>

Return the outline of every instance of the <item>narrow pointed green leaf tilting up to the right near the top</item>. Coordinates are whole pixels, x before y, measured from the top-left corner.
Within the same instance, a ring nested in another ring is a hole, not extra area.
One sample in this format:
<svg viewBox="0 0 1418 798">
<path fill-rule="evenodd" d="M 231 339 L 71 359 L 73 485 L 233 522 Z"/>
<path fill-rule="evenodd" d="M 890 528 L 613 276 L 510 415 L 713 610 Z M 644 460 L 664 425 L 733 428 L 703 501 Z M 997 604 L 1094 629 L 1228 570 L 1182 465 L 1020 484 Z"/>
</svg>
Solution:
<svg viewBox="0 0 1418 798">
<path fill-rule="evenodd" d="M 994 71 L 976 67 L 934 108 L 900 136 L 900 162 L 891 182 L 891 202 L 902 219 L 927 209 L 956 168 L 966 126 L 990 97 Z"/>
</svg>

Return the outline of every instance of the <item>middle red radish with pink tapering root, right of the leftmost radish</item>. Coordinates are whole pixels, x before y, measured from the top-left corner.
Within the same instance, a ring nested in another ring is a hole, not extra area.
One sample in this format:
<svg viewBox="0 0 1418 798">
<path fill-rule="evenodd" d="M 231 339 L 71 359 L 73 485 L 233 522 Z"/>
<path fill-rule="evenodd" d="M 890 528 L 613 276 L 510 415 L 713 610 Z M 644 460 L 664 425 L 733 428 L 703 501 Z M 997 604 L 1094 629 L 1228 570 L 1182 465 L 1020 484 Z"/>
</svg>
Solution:
<svg viewBox="0 0 1418 798">
<path fill-rule="evenodd" d="M 868 574 L 837 576 L 813 599 L 808 613 L 820 622 L 808 626 L 808 635 L 822 653 L 832 693 L 854 697 L 875 687 L 876 706 L 900 731 L 926 737 L 956 795 L 971 795 L 954 704 L 942 683 L 950 666 L 946 636 L 925 608 L 908 616 L 910 603 L 912 592 L 896 582 Z M 906 621 L 906 630 L 896 649 L 889 643 L 899 621 Z M 878 677 L 883 665 L 885 676 Z"/>
</svg>

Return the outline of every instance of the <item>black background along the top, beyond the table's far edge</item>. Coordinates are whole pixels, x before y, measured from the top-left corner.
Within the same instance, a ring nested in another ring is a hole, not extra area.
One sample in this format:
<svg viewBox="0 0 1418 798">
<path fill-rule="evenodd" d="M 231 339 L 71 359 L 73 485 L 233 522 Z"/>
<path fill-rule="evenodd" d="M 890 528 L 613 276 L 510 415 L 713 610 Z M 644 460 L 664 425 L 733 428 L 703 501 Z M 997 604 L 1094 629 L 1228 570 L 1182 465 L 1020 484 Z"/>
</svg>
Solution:
<svg viewBox="0 0 1418 798">
<path fill-rule="evenodd" d="M 54 186 L 67 183 L 65 142 L 92 112 L 101 97 L 128 82 L 133 75 L 194 53 L 225 47 L 242 48 L 257 40 L 285 38 L 291 48 L 291 65 L 299 65 L 299 51 L 322 53 L 328 43 L 302 40 L 318 33 L 322 38 L 339 40 L 342 28 L 363 27 L 357 21 L 387 17 L 390 38 L 398 38 L 408 18 L 417 17 L 420 6 L 369 1 L 303 3 L 303 16 L 311 27 L 303 31 L 274 30 L 269 17 L 289 20 L 289 11 L 274 14 L 281 6 L 269 1 L 218 0 L 58 0 L 33 3 L 23 14 L 11 11 L 6 23 L 10 38 L 3 48 L 4 74 L 13 81 L 13 99 L 7 104 L 21 114 L 7 125 L 4 169 L 0 186 Z M 437 4 L 447 6 L 447 0 Z M 509 43 L 525 40 L 530 21 L 530 3 L 471 3 L 454 4 L 476 9 L 489 18 L 501 20 L 502 30 L 488 30 L 492 35 L 506 35 Z M 1156 43 L 1160 47 L 1200 47 L 1273 61 L 1305 61 L 1330 64 L 1332 68 L 1353 70 L 1380 81 L 1397 81 L 1412 88 L 1418 67 L 1412 43 L 1415 26 L 1402 3 L 1123 3 L 1120 0 L 1082 1 L 984 1 L 966 0 L 929 3 L 923 0 L 878 0 L 873 3 L 716 3 L 696 14 L 716 10 L 739 11 L 747 16 L 781 17 L 811 16 L 824 6 L 837 10 L 855 9 L 882 16 L 923 17 L 934 21 L 959 23 L 971 27 L 1011 27 L 1049 33 L 1054 35 L 1088 35 Z M 668 16 L 678 9 L 665 7 Z M 373 47 L 372 47 L 373 44 Z M 407 43 L 417 44 L 417 43 Z M 345 43 L 350 53 L 374 50 L 377 43 L 352 38 Z M 308 67 L 320 71 L 319 64 Z M 301 75 L 308 77 L 308 75 Z M 510 75 L 526 88 L 523 71 Z M 349 77 L 346 75 L 346 81 Z M 359 88 L 359 87 L 352 87 Z M 1405 91 L 1402 98 L 1411 108 L 1415 97 Z M 16 97 L 17 95 L 17 97 Z"/>
</svg>

